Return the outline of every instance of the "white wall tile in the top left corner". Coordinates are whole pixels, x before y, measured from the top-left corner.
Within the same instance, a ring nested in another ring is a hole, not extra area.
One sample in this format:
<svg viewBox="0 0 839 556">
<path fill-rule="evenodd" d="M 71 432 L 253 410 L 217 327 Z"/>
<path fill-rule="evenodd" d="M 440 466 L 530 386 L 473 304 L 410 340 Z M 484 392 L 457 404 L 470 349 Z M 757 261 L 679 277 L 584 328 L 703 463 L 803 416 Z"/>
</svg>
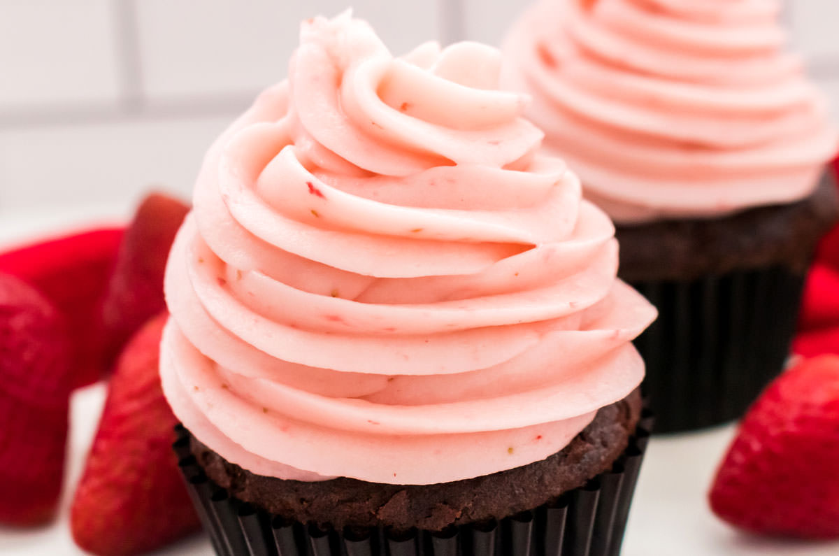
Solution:
<svg viewBox="0 0 839 556">
<path fill-rule="evenodd" d="M 0 0 L 0 111 L 115 103 L 113 8 L 112 0 Z"/>
</svg>

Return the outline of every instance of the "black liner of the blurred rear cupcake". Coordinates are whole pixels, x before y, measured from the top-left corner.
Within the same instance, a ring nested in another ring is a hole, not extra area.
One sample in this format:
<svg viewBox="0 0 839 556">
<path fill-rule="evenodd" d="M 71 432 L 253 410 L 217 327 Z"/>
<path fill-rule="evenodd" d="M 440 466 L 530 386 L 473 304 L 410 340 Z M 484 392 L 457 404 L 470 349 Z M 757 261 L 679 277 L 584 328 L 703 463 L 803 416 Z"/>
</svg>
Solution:
<svg viewBox="0 0 839 556">
<path fill-rule="evenodd" d="M 783 266 L 633 282 L 659 309 L 635 340 L 656 433 L 729 422 L 784 369 L 805 275 Z"/>
</svg>

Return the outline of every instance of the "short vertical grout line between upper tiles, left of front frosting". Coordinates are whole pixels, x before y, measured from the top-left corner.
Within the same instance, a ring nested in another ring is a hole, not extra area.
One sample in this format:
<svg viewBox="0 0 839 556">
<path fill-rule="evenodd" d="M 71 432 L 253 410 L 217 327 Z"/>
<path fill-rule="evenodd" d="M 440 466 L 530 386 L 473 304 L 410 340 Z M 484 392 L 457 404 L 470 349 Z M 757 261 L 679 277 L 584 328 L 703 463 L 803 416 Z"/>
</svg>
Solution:
<svg viewBox="0 0 839 556">
<path fill-rule="evenodd" d="M 139 29 L 136 0 L 117 0 L 114 5 L 114 38 L 118 50 L 117 68 L 120 87 L 120 104 L 125 112 L 142 110 L 143 63 L 140 56 Z"/>
</svg>

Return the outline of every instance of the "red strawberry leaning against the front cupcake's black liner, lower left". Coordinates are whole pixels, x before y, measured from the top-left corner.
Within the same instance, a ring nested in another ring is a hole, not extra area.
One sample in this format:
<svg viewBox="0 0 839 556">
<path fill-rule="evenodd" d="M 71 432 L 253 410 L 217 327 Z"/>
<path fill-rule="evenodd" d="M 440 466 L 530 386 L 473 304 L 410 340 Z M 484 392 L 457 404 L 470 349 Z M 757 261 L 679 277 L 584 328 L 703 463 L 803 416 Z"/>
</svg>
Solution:
<svg viewBox="0 0 839 556">
<path fill-rule="evenodd" d="M 76 543 L 103 556 L 154 550 L 199 528 L 172 451 L 177 418 L 158 375 L 166 315 L 132 338 L 108 386 L 71 511 Z"/>
</svg>

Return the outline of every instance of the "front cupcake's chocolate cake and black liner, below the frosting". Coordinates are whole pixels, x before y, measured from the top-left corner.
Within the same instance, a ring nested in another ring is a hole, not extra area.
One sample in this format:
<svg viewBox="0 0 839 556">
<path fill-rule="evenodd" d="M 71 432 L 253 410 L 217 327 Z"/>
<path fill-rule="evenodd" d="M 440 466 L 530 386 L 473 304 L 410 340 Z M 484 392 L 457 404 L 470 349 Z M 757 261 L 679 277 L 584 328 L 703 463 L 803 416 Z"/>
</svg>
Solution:
<svg viewBox="0 0 839 556">
<path fill-rule="evenodd" d="M 184 427 L 175 451 L 219 554 L 617 556 L 653 421 L 639 407 L 636 391 L 548 459 L 438 485 L 253 475 Z"/>
</svg>

